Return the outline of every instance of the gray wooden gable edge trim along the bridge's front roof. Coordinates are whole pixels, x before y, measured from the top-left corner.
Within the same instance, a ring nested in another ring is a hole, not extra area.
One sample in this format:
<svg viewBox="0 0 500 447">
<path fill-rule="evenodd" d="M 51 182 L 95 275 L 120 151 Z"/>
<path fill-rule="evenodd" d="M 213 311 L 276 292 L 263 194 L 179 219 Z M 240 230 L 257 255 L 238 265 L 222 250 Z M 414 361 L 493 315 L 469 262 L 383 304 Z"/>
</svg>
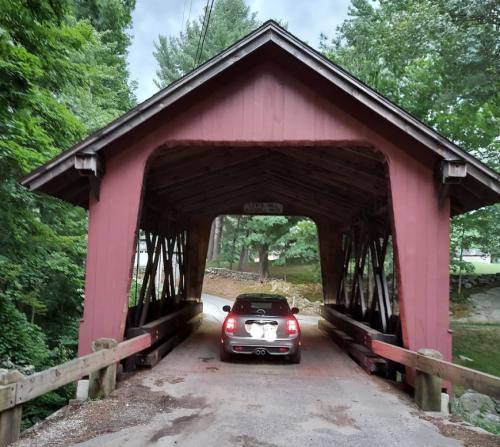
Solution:
<svg viewBox="0 0 500 447">
<path fill-rule="evenodd" d="M 52 178 L 71 169 L 74 165 L 74 155 L 77 152 L 100 151 L 131 128 L 179 101 L 187 93 L 270 41 L 296 57 L 320 76 L 355 97 L 357 101 L 370 110 L 389 120 L 439 157 L 447 160 L 456 160 L 457 158 L 465 160 L 468 163 L 468 174 L 500 196 L 500 174 L 327 60 L 273 21 L 266 22 L 261 28 L 244 37 L 220 55 L 175 81 L 73 148 L 27 174 L 21 179 L 21 184 L 29 186 L 31 190 L 38 189 Z"/>
</svg>

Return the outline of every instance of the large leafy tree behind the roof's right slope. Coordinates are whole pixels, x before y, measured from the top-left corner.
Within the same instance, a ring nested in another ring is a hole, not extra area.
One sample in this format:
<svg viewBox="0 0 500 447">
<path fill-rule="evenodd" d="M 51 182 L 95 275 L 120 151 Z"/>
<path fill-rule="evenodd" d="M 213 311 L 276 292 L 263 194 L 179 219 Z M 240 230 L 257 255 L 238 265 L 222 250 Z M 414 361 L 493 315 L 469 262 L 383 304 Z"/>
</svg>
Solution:
<svg viewBox="0 0 500 447">
<path fill-rule="evenodd" d="M 321 50 L 370 87 L 500 167 L 500 4 L 496 0 L 353 0 L 349 18 Z M 463 234 L 488 222 L 486 251 L 500 235 L 498 206 L 452 221 L 451 258 Z M 465 225 L 465 226 L 464 226 Z M 479 244 L 477 238 L 471 244 Z M 480 248 L 480 247 L 477 247 Z M 494 248 L 496 250 L 496 248 Z"/>
</svg>

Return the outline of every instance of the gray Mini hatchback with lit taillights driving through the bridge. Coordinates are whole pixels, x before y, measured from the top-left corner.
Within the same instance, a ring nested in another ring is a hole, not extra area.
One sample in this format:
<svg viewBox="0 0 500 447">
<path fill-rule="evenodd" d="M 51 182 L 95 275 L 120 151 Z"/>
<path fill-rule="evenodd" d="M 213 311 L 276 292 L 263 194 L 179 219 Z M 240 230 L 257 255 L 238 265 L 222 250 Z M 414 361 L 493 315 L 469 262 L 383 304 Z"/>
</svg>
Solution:
<svg viewBox="0 0 500 447">
<path fill-rule="evenodd" d="M 231 355 L 289 356 L 300 363 L 300 327 L 285 297 L 248 293 L 236 297 L 222 325 L 220 359 L 228 362 Z"/>
</svg>

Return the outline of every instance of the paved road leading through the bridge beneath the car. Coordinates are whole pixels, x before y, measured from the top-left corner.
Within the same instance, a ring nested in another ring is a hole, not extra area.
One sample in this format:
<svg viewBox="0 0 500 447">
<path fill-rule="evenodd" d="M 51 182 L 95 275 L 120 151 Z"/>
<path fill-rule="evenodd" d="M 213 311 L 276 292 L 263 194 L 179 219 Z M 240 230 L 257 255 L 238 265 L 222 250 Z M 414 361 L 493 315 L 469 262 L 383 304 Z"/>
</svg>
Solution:
<svg viewBox="0 0 500 447">
<path fill-rule="evenodd" d="M 229 302 L 210 295 L 203 301 L 210 313 L 201 328 L 155 368 L 122 382 L 116 399 L 112 395 L 63 410 L 63 417 L 47 421 L 18 446 L 461 445 L 419 418 L 423 413 L 390 382 L 366 375 L 318 330 L 316 317 L 299 318 L 300 365 L 274 359 L 221 363 L 219 320 Z M 142 402 L 119 397 L 120 389 L 130 385 L 144 394 Z M 113 423 L 128 414 L 129 406 L 145 408 L 151 396 L 175 405 L 158 411 L 148 423 Z M 105 410 L 106 405 L 114 411 Z M 89 439 L 92 430 L 100 435 Z"/>
</svg>

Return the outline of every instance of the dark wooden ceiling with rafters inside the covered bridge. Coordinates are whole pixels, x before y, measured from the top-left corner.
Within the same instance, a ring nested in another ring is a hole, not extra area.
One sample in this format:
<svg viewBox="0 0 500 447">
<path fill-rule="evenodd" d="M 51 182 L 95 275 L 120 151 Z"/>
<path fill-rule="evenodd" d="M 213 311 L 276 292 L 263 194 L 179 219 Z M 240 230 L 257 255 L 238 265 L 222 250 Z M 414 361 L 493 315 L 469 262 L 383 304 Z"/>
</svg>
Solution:
<svg viewBox="0 0 500 447">
<path fill-rule="evenodd" d="M 369 148 L 183 147 L 160 151 L 146 179 L 145 220 L 170 210 L 188 222 L 243 213 L 253 201 L 285 214 L 350 223 L 387 203 L 384 165 Z"/>
</svg>

